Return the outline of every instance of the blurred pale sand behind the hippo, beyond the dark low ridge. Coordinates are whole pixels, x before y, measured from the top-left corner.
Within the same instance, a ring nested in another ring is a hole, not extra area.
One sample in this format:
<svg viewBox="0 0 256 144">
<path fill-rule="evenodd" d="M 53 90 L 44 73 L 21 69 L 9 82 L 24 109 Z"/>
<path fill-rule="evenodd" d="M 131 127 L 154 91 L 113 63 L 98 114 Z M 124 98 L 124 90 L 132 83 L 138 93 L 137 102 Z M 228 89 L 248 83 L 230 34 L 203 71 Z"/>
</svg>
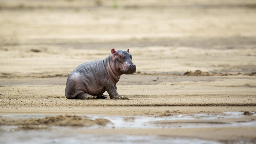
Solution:
<svg viewBox="0 0 256 144">
<path fill-rule="evenodd" d="M 0 75 L 67 76 L 111 48 L 140 72 L 255 72 L 255 18 L 255 0 L 0 0 Z"/>
</svg>

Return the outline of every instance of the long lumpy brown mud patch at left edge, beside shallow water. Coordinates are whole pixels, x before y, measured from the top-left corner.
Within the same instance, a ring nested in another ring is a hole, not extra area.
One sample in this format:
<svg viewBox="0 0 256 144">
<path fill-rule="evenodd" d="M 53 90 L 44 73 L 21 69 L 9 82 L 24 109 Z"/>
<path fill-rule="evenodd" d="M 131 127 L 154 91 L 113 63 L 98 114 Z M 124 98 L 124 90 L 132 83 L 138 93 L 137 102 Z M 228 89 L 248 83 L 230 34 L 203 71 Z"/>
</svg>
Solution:
<svg viewBox="0 0 256 144">
<path fill-rule="evenodd" d="M 86 116 L 46 116 L 44 118 L 18 118 L 18 117 L 0 117 L 0 126 L 18 125 L 20 129 L 45 129 L 50 126 L 105 126 L 111 123 L 108 119 L 98 118 L 91 120 Z"/>
</svg>

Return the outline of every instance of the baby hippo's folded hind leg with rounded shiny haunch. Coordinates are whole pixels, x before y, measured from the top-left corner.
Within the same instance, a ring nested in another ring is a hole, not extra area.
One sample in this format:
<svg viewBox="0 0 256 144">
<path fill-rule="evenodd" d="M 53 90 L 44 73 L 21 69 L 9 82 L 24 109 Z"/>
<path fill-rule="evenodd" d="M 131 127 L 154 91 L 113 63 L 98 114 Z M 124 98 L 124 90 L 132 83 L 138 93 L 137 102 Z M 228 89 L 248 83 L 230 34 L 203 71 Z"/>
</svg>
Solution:
<svg viewBox="0 0 256 144">
<path fill-rule="evenodd" d="M 80 81 L 80 74 L 74 73 L 73 75 L 68 77 L 65 95 L 68 99 L 80 99 L 80 100 L 88 100 L 88 99 L 97 99 L 96 96 L 92 96 L 86 92 L 84 92 L 85 86 L 83 82 Z"/>
</svg>

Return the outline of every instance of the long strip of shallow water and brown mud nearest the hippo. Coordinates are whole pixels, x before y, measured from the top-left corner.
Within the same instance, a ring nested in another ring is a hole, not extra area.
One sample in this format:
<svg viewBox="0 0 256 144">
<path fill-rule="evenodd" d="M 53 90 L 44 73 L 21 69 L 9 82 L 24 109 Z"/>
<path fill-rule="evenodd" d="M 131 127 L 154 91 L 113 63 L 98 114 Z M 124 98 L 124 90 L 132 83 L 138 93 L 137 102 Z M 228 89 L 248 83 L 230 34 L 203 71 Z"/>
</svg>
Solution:
<svg viewBox="0 0 256 144">
<path fill-rule="evenodd" d="M 0 117 L 0 128 L 1 131 L 10 132 L 20 129 L 64 129 L 70 126 L 77 126 L 77 129 L 158 129 L 256 125 L 255 112 L 165 115 L 166 114 L 164 114 L 164 116 L 2 115 Z"/>
</svg>

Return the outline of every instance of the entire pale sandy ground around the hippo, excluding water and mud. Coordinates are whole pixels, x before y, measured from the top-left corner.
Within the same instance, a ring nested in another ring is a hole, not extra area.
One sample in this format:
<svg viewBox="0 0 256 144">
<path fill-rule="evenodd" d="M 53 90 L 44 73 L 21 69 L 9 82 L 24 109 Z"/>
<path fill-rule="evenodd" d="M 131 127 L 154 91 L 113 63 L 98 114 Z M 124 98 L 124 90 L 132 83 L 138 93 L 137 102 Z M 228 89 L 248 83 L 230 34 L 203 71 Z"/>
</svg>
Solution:
<svg viewBox="0 0 256 144">
<path fill-rule="evenodd" d="M 0 118 L 255 112 L 255 7 L 253 0 L 1 0 Z M 137 66 L 135 74 L 121 76 L 117 83 L 118 93 L 130 100 L 66 99 L 68 74 L 81 63 L 106 58 L 111 48 L 129 48 Z M 202 73 L 184 75 L 196 70 Z M 251 115 L 164 122 L 206 124 L 192 128 L 51 131 L 254 143 L 254 123 L 221 124 L 255 119 Z M 220 126 L 209 127 L 212 123 Z"/>
</svg>

